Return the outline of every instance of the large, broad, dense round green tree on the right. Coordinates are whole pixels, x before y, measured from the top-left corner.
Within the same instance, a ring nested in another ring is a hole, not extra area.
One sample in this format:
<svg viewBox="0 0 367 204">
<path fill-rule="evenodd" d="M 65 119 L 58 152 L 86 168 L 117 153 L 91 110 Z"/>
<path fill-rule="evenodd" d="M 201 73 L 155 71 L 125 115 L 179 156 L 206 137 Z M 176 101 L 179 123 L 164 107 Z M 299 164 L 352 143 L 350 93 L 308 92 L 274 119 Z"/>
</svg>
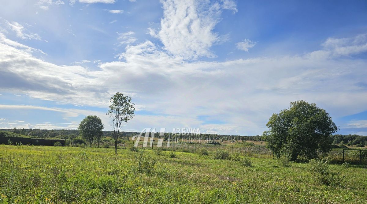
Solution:
<svg viewBox="0 0 367 204">
<path fill-rule="evenodd" d="M 327 153 L 332 148 L 330 136 L 338 130 L 324 109 L 306 101 L 291 102 L 290 108 L 274 113 L 266 126 L 267 146 L 277 157 L 286 155 L 291 161 Z"/>
</svg>

